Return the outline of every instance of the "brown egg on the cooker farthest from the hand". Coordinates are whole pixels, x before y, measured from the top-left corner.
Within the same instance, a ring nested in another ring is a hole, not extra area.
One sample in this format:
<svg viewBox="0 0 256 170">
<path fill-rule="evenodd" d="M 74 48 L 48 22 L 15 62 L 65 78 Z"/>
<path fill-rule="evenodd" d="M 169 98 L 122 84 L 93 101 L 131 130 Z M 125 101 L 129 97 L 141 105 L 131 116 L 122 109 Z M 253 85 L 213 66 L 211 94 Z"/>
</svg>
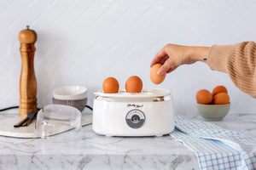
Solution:
<svg viewBox="0 0 256 170">
<path fill-rule="evenodd" d="M 108 77 L 104 80 L 102 88 L 105 94 L 115 94 L 119 92 L 119 82 L 114 77 Z"/>
</svg>

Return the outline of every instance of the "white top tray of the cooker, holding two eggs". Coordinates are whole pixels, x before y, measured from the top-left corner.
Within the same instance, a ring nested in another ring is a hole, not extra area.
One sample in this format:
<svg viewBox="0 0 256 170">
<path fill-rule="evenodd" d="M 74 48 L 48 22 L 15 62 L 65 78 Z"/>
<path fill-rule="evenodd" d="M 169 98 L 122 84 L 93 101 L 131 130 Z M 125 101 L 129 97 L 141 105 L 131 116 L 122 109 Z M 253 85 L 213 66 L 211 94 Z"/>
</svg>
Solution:
<svg viewBox="0 0 256 170">
<path fill-rule="evenodd" d="M 170 95 L 169 90 L 163 88 L 143 88 L 141 93 L 126 93 L 125 89 L 120 89 L 117 94 L 105 94 L 101 89 L 95 93 L 96 95 L 102 97 L 112 97 L 112 98 L 152 98 Z"/>
</svg>

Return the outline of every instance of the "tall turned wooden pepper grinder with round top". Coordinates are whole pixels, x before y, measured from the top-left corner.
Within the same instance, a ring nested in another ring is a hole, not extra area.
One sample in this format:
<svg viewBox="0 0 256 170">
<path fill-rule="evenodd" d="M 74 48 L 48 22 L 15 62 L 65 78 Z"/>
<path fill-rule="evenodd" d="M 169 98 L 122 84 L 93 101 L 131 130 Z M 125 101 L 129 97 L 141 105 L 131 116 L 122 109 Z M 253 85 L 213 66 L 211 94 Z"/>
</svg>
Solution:
<svg viewBox="0 0 256 170">
<path fill-rule="evenodd" d="M 20 31 L 20 106 L 19 116 L 27 115 L 29 111 L 37 111 L 37 79 L 34 70 L 34 54 L 37 33 L 26 26 L 26 30 Z"/>
</svg>

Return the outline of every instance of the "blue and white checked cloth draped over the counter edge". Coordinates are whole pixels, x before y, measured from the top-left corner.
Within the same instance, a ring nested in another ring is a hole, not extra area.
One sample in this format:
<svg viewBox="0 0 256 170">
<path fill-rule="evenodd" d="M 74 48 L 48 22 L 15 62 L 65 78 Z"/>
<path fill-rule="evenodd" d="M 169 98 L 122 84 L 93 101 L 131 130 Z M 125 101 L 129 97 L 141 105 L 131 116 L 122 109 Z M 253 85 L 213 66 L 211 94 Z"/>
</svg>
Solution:
<svg viewBox="0 0 256 170">
<path fill-rule="evenodd" d="M 201 169 L 256 169 L 256 138 L 210 122 L 175 116 L 170 135 L 193 150 Z"/>
</svg>

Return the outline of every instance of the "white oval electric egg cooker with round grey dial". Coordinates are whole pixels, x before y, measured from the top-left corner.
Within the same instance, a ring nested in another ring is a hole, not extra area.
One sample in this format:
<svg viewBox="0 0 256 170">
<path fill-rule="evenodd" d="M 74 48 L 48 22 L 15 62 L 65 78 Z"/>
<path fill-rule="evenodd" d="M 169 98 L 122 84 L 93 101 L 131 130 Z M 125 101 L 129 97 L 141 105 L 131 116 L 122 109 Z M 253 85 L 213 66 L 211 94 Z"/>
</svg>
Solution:
<svg viewBox="0 0 256 170">
<path fill-rule="evenodd" d="M 162 136 L 174 129 L 173 99 L 161 88 L 142 93 L 95 93 L 92 129 L 106 136 Z"/>
</svg>

